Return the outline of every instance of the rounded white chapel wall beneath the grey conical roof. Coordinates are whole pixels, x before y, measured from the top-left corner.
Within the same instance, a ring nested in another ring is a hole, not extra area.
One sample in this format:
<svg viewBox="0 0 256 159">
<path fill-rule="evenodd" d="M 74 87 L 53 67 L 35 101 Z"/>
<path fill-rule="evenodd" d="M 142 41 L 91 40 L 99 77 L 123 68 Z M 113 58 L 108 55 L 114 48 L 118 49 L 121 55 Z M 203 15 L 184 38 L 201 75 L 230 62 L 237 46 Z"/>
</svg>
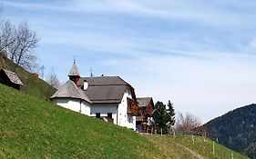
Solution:
<svg viewBox="0 0 256 159">
<path fill-rule="evenodd" d="M 90 114 L 90 104 L 88 104 L 86 101 L 83 101 L 80 104 L 80 99 L 55 98 L 53 99 L 53 102 L 81 114 Z"/>
</svg>

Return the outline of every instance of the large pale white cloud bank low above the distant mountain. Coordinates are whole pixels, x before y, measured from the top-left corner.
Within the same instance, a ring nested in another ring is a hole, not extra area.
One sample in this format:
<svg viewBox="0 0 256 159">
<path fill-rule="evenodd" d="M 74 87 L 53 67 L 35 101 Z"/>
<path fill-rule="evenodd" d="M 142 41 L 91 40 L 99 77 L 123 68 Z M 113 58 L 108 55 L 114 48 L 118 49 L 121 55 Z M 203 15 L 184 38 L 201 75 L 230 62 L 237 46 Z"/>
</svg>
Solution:
<svg viewBox="0 0 256 159">
<path fill-rule="evenodd" d="M 203 122 L 254 102 L 256 58 L 216 56 L 209 59 L 153 55 L 112 65 L 129 68 L 125 79 L 138 96 L 170 99 L 177 111 L 190 112 Z"/>
</svg>

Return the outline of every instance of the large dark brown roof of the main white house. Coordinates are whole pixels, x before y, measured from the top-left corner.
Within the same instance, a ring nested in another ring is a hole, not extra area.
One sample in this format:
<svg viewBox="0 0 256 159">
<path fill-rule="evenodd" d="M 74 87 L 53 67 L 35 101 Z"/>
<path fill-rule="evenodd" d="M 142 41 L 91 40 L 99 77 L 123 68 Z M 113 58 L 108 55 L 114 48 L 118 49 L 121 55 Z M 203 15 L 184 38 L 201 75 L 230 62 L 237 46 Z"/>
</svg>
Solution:
<svg viewBox="0 0 256 159">
<path fill-rule="evenodd" d="M 134 89 L 118 76 L 83 77 L 88 87 L 84 91 L 93 104 L 119 104 L 126 89 L 130 89 L 134 99 Z"/>
</svg>

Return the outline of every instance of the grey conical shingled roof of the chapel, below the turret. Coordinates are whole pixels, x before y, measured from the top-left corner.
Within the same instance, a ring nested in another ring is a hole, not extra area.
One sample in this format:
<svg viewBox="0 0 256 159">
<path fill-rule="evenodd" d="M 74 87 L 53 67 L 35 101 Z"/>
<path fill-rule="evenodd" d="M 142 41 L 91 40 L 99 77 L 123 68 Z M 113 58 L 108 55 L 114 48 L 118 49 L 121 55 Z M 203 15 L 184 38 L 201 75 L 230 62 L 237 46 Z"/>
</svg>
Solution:
<svg viewBox="0 0 256 159">
<path fill-rule="evenodd" d="M 84 92 L 71 80 L 68 80 L 65 84 L 63 84 L 50 98 L 76 98 L 82 99 L 91 104 L 91 101 L 87 95 L 84 94 Z"/>
</svg>

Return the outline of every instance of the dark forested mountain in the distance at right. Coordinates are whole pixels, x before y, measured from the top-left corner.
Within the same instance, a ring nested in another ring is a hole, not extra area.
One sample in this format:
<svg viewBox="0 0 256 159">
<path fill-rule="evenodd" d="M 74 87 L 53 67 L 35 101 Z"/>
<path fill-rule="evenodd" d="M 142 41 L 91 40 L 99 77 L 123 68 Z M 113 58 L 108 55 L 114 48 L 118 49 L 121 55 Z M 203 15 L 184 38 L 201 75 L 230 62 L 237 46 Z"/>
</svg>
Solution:
<svg viewBox="0 0 256 159">
<path fill-rule="evenodd" d="M 256 104 L 223 114 L 204 124 L 211 139 L 256 159 Z"/>
</svg>

